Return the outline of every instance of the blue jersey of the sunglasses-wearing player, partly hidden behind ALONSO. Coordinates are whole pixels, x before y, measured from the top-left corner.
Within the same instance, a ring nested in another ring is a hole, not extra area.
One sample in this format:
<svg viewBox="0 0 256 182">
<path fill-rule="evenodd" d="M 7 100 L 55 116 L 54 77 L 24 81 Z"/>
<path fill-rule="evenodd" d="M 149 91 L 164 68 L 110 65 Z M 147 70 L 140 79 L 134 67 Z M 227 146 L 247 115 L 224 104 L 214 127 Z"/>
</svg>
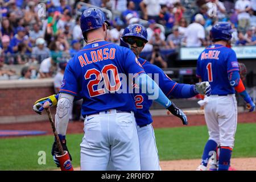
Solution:
<svg viewBox="0 0 256 182">
<path fill-rule="evenodd" d="M 172 81 L 171 78 L 164 74 L 163 70 L 156 65 L 150 64 L 147 60 L 142 58 L 139 58 L 138 61 L 141 63 L 147 75 L 159 85 L 160 89 L 167 97 L 170 97 L 177 83 Z M 148 96 L 141 93 L 135 94 L 134 100 L 137 108 L 137 113 L 135 113 L 137 125 L 148 125 L 152 123 L 153 120 L 149 111 L 152 100 L 148 100 Z"/>
</svg>

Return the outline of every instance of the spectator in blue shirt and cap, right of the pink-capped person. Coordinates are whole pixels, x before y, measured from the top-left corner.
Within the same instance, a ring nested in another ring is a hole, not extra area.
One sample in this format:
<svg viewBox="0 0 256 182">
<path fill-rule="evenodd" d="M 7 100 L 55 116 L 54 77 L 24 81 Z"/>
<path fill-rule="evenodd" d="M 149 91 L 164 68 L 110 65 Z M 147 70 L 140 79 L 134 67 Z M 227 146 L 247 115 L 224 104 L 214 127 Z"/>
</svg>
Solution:
<svg viewBox="0 0 256 182">
<path fill-rule="evenodd" d="M 26 53 L 30 53 L 32 51 L 32 45 L 26 35 L 26 30 L 24 27 L 17 28 L 17 34 L 11 39 L 11 47 L 13 47 L 13 52 L 18 52 L 18 44 L 24 43 L 26 46 Z"/>
</svg>

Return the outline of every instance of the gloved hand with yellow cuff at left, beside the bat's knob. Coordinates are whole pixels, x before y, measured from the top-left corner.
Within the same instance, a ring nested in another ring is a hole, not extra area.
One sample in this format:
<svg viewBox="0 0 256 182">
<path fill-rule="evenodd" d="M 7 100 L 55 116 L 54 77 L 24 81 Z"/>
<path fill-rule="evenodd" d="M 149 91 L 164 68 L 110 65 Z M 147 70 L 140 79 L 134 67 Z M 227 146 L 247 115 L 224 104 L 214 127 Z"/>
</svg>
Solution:
<svg viewBox="0 0 256 182">
<path fill-rule="evenodd" d="M 44 110 L 44 107 L 43 107 L 44 102 L 48 101 L 50 107 L 56 106 L 58 98 L 59 98 L 59 94 L 57 94 L 57 95 L 53 94 L 49 97 L 41 98 L 35 102 L 35 104 L 33 106 L 33 110 L 38 114 L 42 114 L 42 111 Z"/>
</svg>

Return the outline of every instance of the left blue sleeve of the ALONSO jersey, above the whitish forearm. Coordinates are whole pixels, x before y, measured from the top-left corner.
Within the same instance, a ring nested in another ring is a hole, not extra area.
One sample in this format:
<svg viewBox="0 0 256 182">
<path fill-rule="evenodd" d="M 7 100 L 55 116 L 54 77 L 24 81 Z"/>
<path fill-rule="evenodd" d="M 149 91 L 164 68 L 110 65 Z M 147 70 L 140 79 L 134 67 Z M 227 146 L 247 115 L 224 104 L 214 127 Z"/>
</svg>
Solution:
<svg viewBox="0 0 256 182">
<path fill-rule="evenodd" d="M 76 96 L 79 90 L 77 84 L 77 77 L 75 75 L 76 73 L 73 71 L 74 65 L 74 60 L 71 59 L 68 62 L 67 67 L 65 68 L 64 77 L 61 82 L 60 92 Z"/>
</svg>

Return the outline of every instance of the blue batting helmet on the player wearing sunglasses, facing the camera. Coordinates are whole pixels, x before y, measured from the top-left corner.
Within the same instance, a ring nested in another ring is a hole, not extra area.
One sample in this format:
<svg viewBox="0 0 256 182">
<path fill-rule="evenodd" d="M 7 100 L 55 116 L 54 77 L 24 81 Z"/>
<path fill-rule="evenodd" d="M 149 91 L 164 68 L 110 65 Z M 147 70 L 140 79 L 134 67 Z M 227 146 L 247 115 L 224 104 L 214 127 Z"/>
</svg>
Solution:
<svg viewBox="0 0 256 182">
<path fill-rule="evenodd" d="M 134 23 L 130 24 L 123 30 L 122 37 L 120 38 L 120 46 L 130 48 L 130 46 L 123 40 L 127 36 L 135 36 L 137 38 L 142 39 L 145 43 L 147 43 L 147 30 L 141 24 Z"/>
</svg>

